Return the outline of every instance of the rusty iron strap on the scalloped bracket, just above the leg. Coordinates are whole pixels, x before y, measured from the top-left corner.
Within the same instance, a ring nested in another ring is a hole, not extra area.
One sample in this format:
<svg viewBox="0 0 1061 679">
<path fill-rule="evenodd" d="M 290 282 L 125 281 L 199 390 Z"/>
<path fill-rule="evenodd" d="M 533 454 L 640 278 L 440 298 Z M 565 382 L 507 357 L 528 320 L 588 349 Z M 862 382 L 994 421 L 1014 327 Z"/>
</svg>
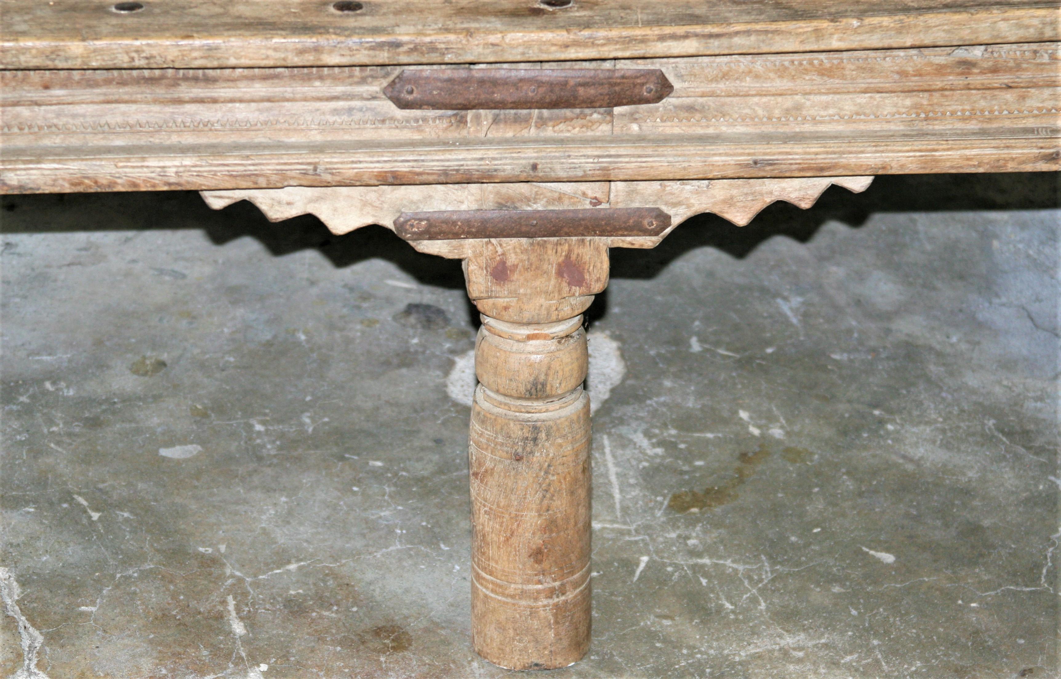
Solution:
<svg viewBox="0 0 1061 679">
<path fill-rule="evenodd" d="M 402 212 L 395 220 L 406 241 L 659 236 L 669 227 L 671 215 L 659 208 Z"/>
</svg>

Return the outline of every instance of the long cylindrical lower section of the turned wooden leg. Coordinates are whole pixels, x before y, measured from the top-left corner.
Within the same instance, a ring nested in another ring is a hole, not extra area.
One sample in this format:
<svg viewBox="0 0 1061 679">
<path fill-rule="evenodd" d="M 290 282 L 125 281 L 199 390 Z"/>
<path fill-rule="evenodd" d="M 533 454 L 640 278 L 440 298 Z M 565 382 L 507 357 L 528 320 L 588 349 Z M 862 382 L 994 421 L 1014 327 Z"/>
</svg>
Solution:
<svg viewBox="0 0 1061 679">
<path fill-rule="evenodd" d="M 590 642 L 589 397 L 480 386 L 470 438 L 472 644 L 502 667 L 566 667 Z"/>
</svg>

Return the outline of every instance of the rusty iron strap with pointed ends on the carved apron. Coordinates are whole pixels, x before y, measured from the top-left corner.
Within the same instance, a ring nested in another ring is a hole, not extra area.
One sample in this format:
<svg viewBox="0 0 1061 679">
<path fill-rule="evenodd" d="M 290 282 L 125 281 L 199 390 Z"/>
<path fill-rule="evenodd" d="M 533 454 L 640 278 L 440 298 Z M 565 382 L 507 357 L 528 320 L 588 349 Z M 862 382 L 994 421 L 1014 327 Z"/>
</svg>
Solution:
<svg viewBox="0 0 1061 679">
<path fill-rule="evenodd" d="M 612 108 L 674 91 L 659 69 L 405 69 L 383 88 L 398 108 Z"/>
</svg>

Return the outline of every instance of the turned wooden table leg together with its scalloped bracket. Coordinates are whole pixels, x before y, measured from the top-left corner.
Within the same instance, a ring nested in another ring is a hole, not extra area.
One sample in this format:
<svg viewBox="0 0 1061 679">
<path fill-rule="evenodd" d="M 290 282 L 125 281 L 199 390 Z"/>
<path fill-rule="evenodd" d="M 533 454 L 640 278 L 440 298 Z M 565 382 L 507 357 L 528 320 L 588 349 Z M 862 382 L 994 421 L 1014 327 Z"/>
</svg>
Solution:
<svg viewBox="0 0 1061 679">
<path fill-rule="evenodd" d="M 334 233 L 393 220 L 417 250 L 464 260 L 468 295 L 483 313 L 469 450 L 472 639 L 498 665 L 544 669 L 570 665 L 589 648 L 581 314 L 608 284 L 608 246 L 655 247 L 698 212 L 747 224 L 776 201 L 807 208 L 833 184 L 857 193 L 871 180 L 289 187 L 204 197 L 216 209 L 249 199 L 273 221 L 312 212 Z M 596 195 L 607 196 L 609 207 L 577 207 L 578 196 L 594 196 L 589 204 L 599 206 Z M 512 238 L 584 232 L 597 236 Z"/>
</svg>

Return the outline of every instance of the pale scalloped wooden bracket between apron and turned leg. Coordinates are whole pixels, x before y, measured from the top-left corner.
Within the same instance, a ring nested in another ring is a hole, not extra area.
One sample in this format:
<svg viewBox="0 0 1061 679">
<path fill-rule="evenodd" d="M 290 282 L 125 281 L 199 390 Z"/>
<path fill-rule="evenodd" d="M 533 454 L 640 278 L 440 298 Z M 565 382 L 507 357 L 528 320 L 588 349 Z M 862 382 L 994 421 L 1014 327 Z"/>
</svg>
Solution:
<svg viewBox="0 0 1061 679">
<path fill-rule="evenodd" d="M 873 177 L 796 177 L 782 179 L 702 179 L 680 181 L 572 181 L 549 184 L 441 184 L 379 187 L 288 187 L 202 191 L 215 210 L 240 201 L 258 206 L 271 222 L 314 214 L 341 236 L 380 224 L 394 229 L 402 212 L 467 210 L 577 210 L 660 208 L 671 227 L 658 236 L 601 237 L 608 247 L 655 247 L 689 217 L 711 212 L 744 226 L 777 201 L 806 209 L 834 184 L 854 193 Z M 463 241 L 410 241 L 422 251 L 463 258 Z"/>
</svg>

